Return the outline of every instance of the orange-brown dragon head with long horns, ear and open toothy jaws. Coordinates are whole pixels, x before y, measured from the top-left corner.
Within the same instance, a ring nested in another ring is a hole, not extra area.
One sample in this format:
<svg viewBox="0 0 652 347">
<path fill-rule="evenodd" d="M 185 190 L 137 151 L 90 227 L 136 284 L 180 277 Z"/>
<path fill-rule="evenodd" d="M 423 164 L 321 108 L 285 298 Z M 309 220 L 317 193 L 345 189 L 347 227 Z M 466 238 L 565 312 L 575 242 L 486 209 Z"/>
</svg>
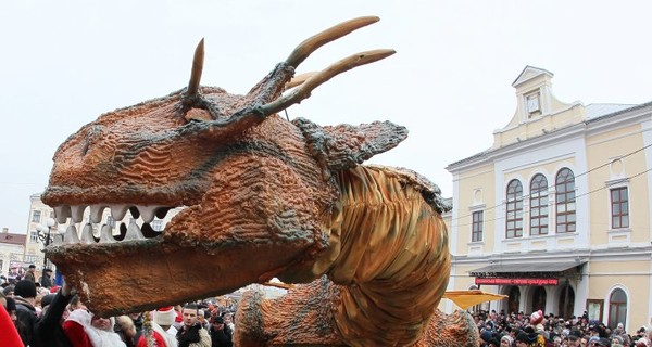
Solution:
<svg viewBox="0 0 652 347">
<path fill-rule="evenodd" d="M 294 77 L 316 49 L 376 21 L 306 39 L 246 95 L 200 86 L 202 40 L 187 88 L 102 114 L 61 144 L 42 201 L 71 227 L 47 256 L 92 310 L 140 311 L 274 277 L 303 280 L 328 246 L 334 175 L 396 146 L 406 130 L 388 121 L 321 127 L 277 113 L 331 77 L 393 54 L 361 52 Z M 149 228 L 181 206 L 162 232 Z M 92 223 L 83 220 L 86 208 Z M 114 236 L 95 224 L 105 208 L 115 220 L 130 210 L 145 224 Z"/>
</svg>

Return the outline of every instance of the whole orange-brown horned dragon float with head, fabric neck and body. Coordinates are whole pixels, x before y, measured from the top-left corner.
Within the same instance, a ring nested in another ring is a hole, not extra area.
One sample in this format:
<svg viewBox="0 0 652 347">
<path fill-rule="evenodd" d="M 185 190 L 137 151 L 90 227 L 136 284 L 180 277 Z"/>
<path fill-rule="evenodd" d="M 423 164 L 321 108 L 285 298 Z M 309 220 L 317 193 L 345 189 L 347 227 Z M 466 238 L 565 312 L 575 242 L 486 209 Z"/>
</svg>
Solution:
<svg viewBox="0 0 652 347">
<path fill-rule="evenodd" d="M 478 344 L 467 314 L 436 309 L 450 272 L 439 190 L 405 169 L 361 165 L 406 129 L 277 115 L 331 77 L 393 54 L 362 52 L 292 78 L 314 50 L 377 21 L 309 38 L 246 95 L 199 85 L 202 40 L 188 88 L 103 114 L 57 150 L 42 200 L 72 227 L 47 256 L 93 312 L 150 310 L 276 277 L 310 284 L 272 305 L 243 299 L 237 346 Z M 149 227 L 180 206 L 163 232 Z M 116 220 L 129 209 L 142 228 L 116 241 L 103 226 L 96 242 L 95 226 L 82 223 L 87 207 L 93 222 L 105 207 Z"/>
</svg>

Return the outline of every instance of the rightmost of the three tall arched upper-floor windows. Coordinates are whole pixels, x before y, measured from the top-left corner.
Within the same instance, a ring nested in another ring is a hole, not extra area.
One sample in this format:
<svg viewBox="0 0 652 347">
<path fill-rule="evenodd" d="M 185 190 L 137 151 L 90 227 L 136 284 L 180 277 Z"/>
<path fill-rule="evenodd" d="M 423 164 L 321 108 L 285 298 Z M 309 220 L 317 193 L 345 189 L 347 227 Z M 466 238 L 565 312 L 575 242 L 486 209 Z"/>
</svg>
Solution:
<svg viewBox="0 0 652 347">
<path fill-rule="evenodd" d="M 557 172 L 556 190 L 556 232 L 574 232 L 575 229 L 575 175 L 568 168 Z"/>
</svg>

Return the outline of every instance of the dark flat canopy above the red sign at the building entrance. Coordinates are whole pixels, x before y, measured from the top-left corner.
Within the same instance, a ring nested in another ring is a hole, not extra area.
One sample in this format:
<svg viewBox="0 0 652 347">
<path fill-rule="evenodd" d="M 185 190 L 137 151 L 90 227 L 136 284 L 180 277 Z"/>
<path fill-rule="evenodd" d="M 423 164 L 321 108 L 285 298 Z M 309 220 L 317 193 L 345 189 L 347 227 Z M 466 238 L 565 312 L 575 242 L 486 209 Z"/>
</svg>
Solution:
<svg viewBox="0 0 652 347">
<path fill-rule="evenodd" d="M 492 264 L 469 271 L 476 278 L 513 277 L 557 277 L 562 272 L 578 267 L 586 261 L 531 262 L 531 264 Z"/>
</svg>

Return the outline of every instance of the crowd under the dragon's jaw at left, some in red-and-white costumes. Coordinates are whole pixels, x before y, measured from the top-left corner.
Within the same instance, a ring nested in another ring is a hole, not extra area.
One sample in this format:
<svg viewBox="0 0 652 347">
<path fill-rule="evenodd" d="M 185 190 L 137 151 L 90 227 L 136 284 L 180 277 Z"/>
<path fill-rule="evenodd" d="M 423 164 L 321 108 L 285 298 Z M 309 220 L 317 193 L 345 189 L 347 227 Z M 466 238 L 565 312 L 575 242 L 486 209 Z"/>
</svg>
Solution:
<svg viewBox="0 0 652 347">
<path fill-rule="evenodd" d="M 59 287 L 50 282 L 46 287 L 29 272 L 15 284 L 2 283 L 2 346 L 233 347 L 233 307 L 197 301 L 100 317 L 89 311 L 67 284 Z"/>
</svg>

